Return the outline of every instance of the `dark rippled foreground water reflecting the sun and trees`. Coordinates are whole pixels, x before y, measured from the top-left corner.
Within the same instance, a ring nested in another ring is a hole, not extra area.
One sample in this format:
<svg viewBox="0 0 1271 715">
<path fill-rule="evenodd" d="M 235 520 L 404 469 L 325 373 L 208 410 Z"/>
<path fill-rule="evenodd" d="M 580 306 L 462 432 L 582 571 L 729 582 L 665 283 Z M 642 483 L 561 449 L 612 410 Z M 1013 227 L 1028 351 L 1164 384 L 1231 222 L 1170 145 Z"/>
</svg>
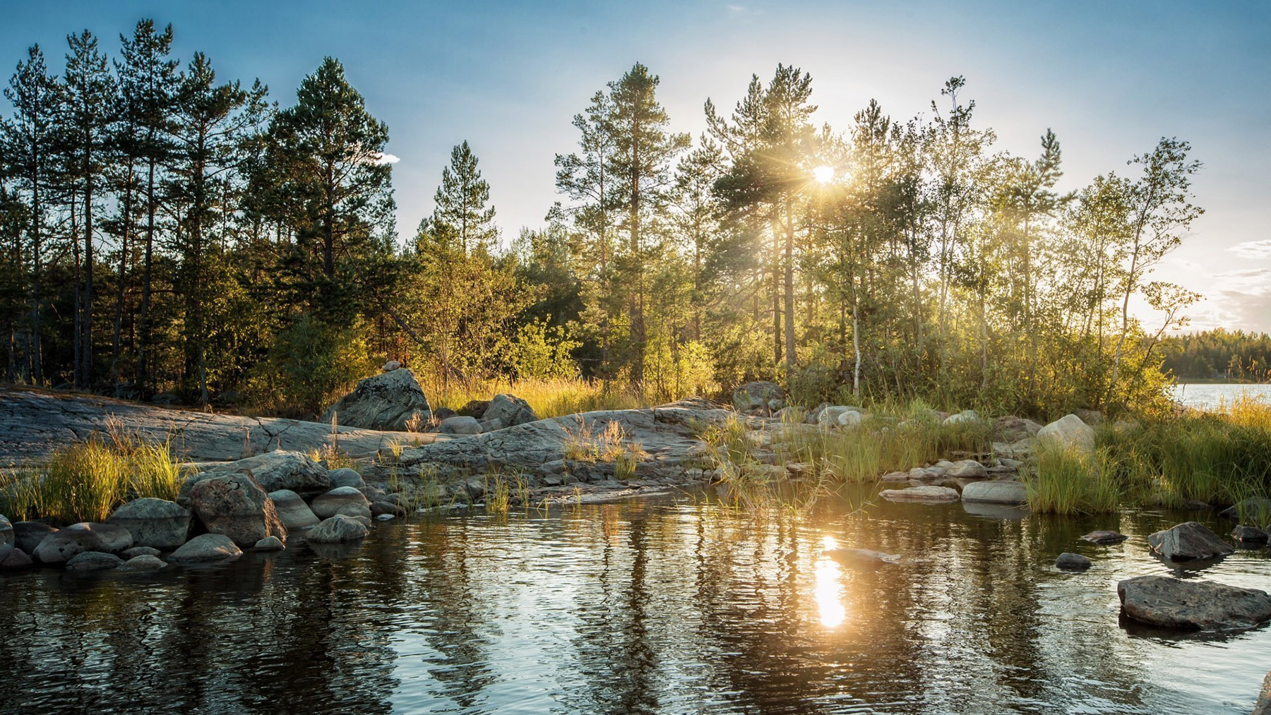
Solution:
<svg viewBox="0 0 1271 715">
<path fill-rule="evenodd" d="M 882 503 L 758 525 L 685 498 L 147 577 L 25 571 L 0 577 L 0 711 L 1248 712 L 1271 630 L 1118 622 L 1116 582 L 1169 571 L 1145 535 L 1195 516 Z M 1094 528 L 1130 540 L 1078 540 Z M 826 546 L 904 560 L 852 570 Z M 1094 568 L 1055 570 L 1065 550 Z M 1190 575 L 1266 589 L 1271 560 Z"/>
</svg>

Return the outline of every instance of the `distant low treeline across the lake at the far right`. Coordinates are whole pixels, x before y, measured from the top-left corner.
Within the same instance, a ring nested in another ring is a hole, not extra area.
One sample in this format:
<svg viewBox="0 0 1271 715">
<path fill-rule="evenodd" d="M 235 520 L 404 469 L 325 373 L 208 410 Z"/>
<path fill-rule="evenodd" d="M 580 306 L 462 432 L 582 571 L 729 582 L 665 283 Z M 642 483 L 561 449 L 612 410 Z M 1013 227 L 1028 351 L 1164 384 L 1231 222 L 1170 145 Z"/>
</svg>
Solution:
<svg viewBox="0 0 1271 715">
<path fill-rule="evenodd" d="M 1271 335 L 1205 330 L 1164 340 L 1164 370 L 1176 377 L 1271 382 Z"/>
</svg>

